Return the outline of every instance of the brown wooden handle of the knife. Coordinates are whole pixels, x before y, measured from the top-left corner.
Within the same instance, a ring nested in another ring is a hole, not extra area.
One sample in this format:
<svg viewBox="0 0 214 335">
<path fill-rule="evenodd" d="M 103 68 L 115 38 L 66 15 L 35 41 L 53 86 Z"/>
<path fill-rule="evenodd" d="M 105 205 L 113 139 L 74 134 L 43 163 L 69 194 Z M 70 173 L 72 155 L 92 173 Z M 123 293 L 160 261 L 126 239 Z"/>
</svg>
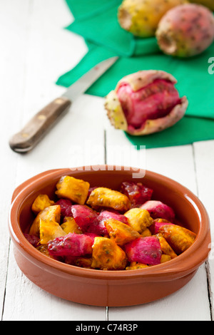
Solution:
<svg viewBox="0 0 214 335">
<path fill-rule="evenodd" d="M 71 100 L 65 97 L 56 98 L 46 105 L 19 133 L 12 136 L 9 141 L 11 149 L 17 153 L 26 153 L 34 148 L 70 106 Z"/>
</svg>

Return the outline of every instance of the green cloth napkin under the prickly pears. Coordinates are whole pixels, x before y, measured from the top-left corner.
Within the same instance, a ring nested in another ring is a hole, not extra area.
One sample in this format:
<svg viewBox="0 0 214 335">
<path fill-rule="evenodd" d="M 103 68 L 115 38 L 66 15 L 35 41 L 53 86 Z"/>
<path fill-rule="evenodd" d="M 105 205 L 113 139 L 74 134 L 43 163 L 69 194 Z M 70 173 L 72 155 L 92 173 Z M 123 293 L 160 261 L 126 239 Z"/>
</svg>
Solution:
<svg viewBox="0 0 214 335">
<path fill-rule="evenodd" d="M 208 73 L 214 43 L 200 56 L 173 58 L 159 50 L 156 38 L 136 38 L 121 29 L 117 18 L 121 0 L 66 0 L 66 3 L 74 16 L 66 29 L 85 38 L 88 52 L 77 66 L 58 78 L 58 85 L 70 86 L 111 56 L 119 56 L 118 61 L 86 93 L 104 97 L 130 73 L 149 69 L 167 71 L 178 80 L 176 88 L 180 96 L 188 98 L 185 117 L 161 133 L 139 137 L 126 134 L 128 140 L 138 148 L 140 145 L 158 148 L 214 139 L 214 76 Z"/>
</svg>

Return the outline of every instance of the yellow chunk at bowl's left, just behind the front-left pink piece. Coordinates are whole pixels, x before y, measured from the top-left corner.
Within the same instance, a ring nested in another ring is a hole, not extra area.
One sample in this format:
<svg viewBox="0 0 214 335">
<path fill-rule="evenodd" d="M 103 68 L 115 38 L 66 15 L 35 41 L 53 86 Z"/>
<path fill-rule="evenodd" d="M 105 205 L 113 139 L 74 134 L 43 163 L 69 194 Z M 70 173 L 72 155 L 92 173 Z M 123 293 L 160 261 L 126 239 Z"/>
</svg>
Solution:
<svg viewBox="0 0 214 335">
<path fill-rule="evenodd" d="M 39 231 L 41 244 L 48 244 L 51 239 L 66 235 L 66 232 L 61 229 L 61 226 L 51 220 L 40 219 Z"/>
</svg>

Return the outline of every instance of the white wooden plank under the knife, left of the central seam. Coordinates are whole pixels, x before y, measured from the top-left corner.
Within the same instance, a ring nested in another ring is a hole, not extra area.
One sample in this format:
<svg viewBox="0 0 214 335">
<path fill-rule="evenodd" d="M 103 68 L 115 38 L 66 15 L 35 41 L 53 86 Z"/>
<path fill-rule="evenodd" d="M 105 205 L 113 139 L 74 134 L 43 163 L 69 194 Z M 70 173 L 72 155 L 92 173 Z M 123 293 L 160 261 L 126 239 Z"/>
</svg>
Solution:
<svg viewBox="0 0 214 335">
<path fill-rule="evenodd" d="M 19 10 L 23 10 L 19 8 L 18 2 L 12 1 L 16 16 L 19 16 Z M 21 122 L 16 124 L 16 130 L 19 130 L 19 126 L 22 127 L 44 104 L 64 91 L 55 85 L 56 78 L 69 66 L 73 66 L 73 62 L 77 60 L 73 53 L 76 53 L 77 57 L 77 54 L 81 56 L 81 48 L 82 51 L 85 50 L 83 41 L 73 36 L 71 38 L 68 32 L 63 30 L 66 19 L 70 20 L 63 1 L 54 1 L 54 6 L 50 0 L 29 0 L 24 4 L 28 10 L 26 9 L 26 16 L 22 15 L 22 20 L 27 29 L 21 31 L 21 38 L 26 43 L 26 58 L 23 59 L 25 71 L 22 68 L 19 73 L 19 81 L 24 81 L 24 96 L 21 97 L 22 110 L 19 110 Z M 26 31 L 28 38 L 24 36 Z M 14 176 L 15 184 L 19 185 L 44 170 L 103 164 L 104 131 L 99 103 L 99 100 L 91 96 L 82 96 L 73 103 L 70 113 L 31 153 L 14 154 L 18 160 Z M 4 294 L 4 290 L 2 292 Z M 39 289 L 17 267 L 11 245 L 4 299 L 4 321 L 93 319 L 105 320 L 106 308 L 63 301 Z"/>
</svg>

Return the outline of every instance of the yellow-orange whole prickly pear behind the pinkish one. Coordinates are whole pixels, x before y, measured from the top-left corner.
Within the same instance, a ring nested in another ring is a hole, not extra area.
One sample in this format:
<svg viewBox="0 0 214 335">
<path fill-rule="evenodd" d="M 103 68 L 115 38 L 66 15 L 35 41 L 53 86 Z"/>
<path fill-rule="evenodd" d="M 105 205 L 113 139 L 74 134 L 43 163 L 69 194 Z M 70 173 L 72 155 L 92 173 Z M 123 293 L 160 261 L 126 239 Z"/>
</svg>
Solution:
<svg viewBox="0 0 214 335">
<path fill-rule="evenodd" d="M 186 0 L 123 0 L 118 8 L 118 21 L 123 29 L 135 36 L 155 36 L 162 16 Z"/>
</svg>

